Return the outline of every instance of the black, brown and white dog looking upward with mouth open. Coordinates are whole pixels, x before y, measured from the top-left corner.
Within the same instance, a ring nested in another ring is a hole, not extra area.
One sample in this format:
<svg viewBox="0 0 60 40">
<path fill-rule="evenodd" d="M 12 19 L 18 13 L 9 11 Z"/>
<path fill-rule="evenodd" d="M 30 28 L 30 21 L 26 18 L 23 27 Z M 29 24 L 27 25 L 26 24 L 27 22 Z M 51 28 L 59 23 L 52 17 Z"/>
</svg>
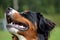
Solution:
<svg viewBox="0 0 60 40">
<path fill-rule="evenodd" d="M 55 23 L 41 13 L 18 12 L 12 8 L 6 11 L 7 29 L 13 35 L 12 40 L 48 40 Z"/>
</svg>

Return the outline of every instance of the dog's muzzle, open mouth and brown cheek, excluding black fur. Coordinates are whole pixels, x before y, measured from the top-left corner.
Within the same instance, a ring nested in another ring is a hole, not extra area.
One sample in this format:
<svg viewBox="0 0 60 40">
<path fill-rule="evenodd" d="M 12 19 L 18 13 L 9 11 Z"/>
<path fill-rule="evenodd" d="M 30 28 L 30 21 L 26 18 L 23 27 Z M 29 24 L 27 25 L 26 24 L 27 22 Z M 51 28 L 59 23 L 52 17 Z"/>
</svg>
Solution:
<svg viewBox="0 0 60 40">
<path fill-rule="evenodd" d="M 24 36 L 24 40 L 36 39 L 37 27 L 27 18 L 23 17 L 19 12 L 12 8 L 8 8 L 6 12 L 7 29 L 11 34 Z"/>
</svg>

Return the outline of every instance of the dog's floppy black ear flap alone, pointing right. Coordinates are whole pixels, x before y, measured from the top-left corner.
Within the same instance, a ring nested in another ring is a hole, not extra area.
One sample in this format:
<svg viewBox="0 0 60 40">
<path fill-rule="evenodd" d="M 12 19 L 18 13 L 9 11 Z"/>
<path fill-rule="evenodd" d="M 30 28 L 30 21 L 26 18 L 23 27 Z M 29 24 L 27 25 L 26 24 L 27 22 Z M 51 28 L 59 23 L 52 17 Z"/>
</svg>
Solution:
<svg viewBox="0 0 60 40">
<path fill-rule="evenodd" d="M 43 17 L 41 13 L 37 13 L 37 17 L 38 17 L 38 28 L 42 32 L 50 31 L 55 27 L 55 23 Z"/>
</svg>

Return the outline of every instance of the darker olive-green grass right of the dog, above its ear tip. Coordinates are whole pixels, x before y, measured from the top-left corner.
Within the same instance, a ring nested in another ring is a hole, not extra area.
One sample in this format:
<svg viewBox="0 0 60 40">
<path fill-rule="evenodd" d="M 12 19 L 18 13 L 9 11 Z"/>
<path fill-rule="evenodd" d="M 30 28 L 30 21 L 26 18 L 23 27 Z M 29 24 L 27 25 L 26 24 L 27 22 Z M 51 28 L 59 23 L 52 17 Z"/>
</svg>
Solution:
<svg viewBox="0 0 60 40">
<path fill-rule="evenodd" d="M 44 16 L 60 27 L 60 14 L 44 14 Z"/>
</svg>

